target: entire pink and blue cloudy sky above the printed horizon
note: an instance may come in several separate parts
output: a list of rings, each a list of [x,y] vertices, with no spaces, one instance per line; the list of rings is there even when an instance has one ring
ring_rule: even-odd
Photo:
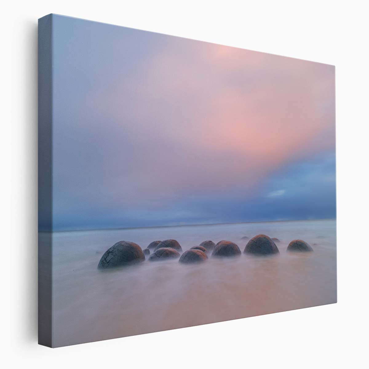
[[[334,66],[53,26],[54,230],[335,218]]]

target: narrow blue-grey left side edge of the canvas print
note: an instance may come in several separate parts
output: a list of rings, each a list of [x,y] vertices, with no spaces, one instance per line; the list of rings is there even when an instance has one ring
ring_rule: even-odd
[[[52,347],[52,15],[38,20],[38,343]]]

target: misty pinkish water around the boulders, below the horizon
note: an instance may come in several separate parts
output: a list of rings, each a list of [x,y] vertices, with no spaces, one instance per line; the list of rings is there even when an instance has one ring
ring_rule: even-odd
[[[54,346],[335,303],[335,232],[335,220],[55,232]],[[279,238],[280,254],[244,255],[247,240],[241,237],[257,234]],[[208,239],[225,239],[235,242],[242,256],[209,255],[197,265],[168,260],[97,269],[115,242],[133,241],[144,249],[168,238],[183,251]],[[286,253],[297,238],[314,252]]]

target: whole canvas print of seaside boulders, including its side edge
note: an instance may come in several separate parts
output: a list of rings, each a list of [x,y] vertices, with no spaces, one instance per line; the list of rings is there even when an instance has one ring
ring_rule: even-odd
[[[39,343],[337,301],[332,65],[39,20]]]

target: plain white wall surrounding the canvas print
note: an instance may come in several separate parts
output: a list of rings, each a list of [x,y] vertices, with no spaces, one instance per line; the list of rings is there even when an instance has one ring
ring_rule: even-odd
[[[0,58],[5,111],[0,145],[0,224],[6,235],[1,237],[1,282],[2,291],[6,290],[1,293],[0,315],[4,368],[365,365],[366,3],[15,0],[2,4],[1,50],[6,48]],[[37,18],[49,13],[336,65],[338,304],[59,349],[37,345]]]

